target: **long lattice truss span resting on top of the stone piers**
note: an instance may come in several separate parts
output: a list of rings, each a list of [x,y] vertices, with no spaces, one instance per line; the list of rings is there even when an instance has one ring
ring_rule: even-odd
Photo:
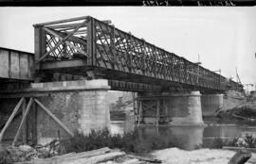
[[[34,25],[39,74],[109,79],[113,90],[243,90],[243,86],[184,57],[85,16]],[[90,75],[91,74],[91,75]]]

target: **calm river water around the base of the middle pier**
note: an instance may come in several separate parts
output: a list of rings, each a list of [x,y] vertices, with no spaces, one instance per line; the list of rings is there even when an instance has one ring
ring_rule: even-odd
[[[180,148],[193,150],[202,144],[216,139],[231,140],[250,134],[256,136],[256,125],[245,123],[223,123],[217,119],[205,119],[206,126],[168,126],[168,125],[139,125],[138,128],[146,135],[160,135],[161,139],[177,139]],[[133,131],[137,125],[133,120],[112,121],[112,134],[123,134]]]

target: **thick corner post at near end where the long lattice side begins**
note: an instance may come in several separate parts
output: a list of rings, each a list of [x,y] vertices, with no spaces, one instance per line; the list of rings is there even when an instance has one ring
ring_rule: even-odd
[[[87,54],[89,56],[87,64],[88,66],[96,66],[96,25],[92,17],[88,17],[87,31]]]

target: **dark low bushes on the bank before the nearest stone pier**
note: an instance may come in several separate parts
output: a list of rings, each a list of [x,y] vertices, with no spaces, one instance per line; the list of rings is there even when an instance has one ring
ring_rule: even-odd
[[[89,135],[83,135],[76,132],[75,136],[70,139],[61,140],[65,153],[84,152],[102,147],[111,149],[120,149],[130,153],[149,153],[153,150],[177,147],[177,139],[164,139],[160,135],[145,135],[138,129],[123,135],[112,135],[107,129],[96,131],[92,130]]]

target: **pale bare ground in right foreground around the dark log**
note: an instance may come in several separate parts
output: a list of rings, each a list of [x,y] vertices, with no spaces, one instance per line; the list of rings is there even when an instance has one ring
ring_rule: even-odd
[[[163,164],[221,164],[228,163],[235,153],[222,149],[184,151],[178,148],[169,148],[155,151],[153,156],[162,160]],[[252,154],[252,157],[247,161],[247,164],[249,163],[256,163],[256,154]]]

